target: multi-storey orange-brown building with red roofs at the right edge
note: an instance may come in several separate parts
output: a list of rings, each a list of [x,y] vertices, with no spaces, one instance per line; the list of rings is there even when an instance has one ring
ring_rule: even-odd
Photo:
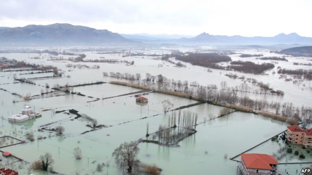
[[[312,129],[302,129],[297,125],[287,126],[286,137],[292,144],[301,144],[312,148]]]

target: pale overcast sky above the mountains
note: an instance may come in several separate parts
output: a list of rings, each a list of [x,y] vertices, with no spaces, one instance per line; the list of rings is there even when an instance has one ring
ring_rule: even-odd
[[[119,34],[312,37],[312,0],[0,0],[0,26],[71,23]]]

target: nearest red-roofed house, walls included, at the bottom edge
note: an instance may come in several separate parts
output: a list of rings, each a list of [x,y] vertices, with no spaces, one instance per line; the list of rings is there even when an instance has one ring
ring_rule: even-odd
[[[276,175],[278,162],[266,154],[241,154],[239,170],[243,175]]]

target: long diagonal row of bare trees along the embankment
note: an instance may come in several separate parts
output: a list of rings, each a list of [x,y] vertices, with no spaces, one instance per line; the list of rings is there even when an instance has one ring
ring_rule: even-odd
[[[246,80],[253,82],[252,79]],[[234,90],[232,90],[232,88],[229,89],[225,81],[220,84],[220,87],[210,84],[206,87],[198,86],[196,82],[191,83],[196,86],[189,86],[188,81],[182,82],[180,80],[170,80],[161,74],[152,76],[149,73],[146,73],[145,79],[137,80],[136,83],[150,89],[160,89],[187,94],[189,98],[197,98],[200,101],[208,101],[220,105],[240,105],[257,111],[275,111],[275,114],[278,115],[312,122],[310,119],[312,118],[310,112],[312,111],[312,107],[302,106],[299,108],[293,106],[292,103],[282,104],[280,102],[268,102],[266,100],[251,99],[243,94],[238,95],[238,92],[250,92],[249,86],[245,83],[237,87],[237,90],[236,88],[234,88]],[[261,93],[265,94],[271,89],[267,84],[263,84],[262,82],[255,81],[255,83],[258,83],[258,86],[262,88]],[[283,94],[283,92],[280,93]],[[166,107],[166,110],[164,108],[164,111],[168,112],[169,110],[167,110]]]

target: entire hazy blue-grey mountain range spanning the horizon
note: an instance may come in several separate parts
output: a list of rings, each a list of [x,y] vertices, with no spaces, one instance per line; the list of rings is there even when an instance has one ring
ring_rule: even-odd
[[[211,44],[211,45],[311,45],[312,37],[292,33],[273,37],[240,35],[209,35],[202,33],[195,37],[180,35],[125,35],[71,24],[27,25],[25,27],[0,27],[0,46],[100,46],[137,45],[143,43]]]

